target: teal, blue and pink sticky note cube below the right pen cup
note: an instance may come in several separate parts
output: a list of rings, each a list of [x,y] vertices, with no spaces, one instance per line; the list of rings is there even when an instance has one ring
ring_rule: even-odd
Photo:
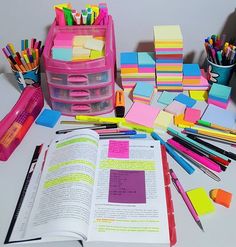
[[[208,95],[208,104],[226,109],[229,104],[230,93],[231,87],[213,83]]]

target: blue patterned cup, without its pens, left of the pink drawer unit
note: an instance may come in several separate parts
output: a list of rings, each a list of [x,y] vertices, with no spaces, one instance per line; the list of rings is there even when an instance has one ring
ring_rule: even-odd
[[[25,72],[20,72],[18,70],[12,69],[12,72],[16,77],[20,91],[22,91],[28,85],[38,87],[41,84],[39,66],[36,66],[35,68],[27,70]]]

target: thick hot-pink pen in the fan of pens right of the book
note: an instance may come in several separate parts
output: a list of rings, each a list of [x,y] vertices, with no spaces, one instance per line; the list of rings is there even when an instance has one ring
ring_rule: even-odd
[[[217,163],[215,163],[214,161],[208,159],[207,157],[201,156],[201,155],[189,150],[188,148],[184,147],[183,145],[179,144],[178,142],[174,141],[173,139],[169,139],[167,142],[171,146],[176,148],[177,150],[180,150],[181,152],[191,156],[193,159],[199,161],[201,164],[208,167],[209,169],[211,169],[215,172],[222,172],[220,166]]]

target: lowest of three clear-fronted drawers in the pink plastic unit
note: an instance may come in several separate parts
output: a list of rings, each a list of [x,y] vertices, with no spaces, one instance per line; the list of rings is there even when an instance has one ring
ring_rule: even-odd
[[[52,109],[60,111],[63,115],[101,115],[113,110],[113,97],[84,101],[84,102],[68,102],[51,98]]]

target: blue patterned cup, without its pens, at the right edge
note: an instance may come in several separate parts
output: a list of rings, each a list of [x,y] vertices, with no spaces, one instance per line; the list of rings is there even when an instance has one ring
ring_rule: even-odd
[[[234,71],[235,64],[219,65],[207,60],[207,78],[210,84],[228,85]]]

